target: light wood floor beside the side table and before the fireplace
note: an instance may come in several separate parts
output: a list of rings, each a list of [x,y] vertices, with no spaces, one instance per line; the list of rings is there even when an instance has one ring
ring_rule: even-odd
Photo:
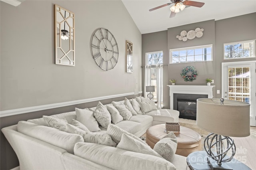
[[[188,119],[180,119],[180,123],[196,125],[196,121]],[[256,132],[255,127],[250,127],[251,131]],[[252,170],[256,170],[256,136],[247,136],[242,138],[232,137],[236,144],[235,159],[243,162]]]

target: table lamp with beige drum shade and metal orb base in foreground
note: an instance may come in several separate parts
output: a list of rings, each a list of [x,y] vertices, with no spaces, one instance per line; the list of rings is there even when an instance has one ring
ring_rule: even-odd
[[[197,99],[196,125],[211,132],[204,140],[208,156],[216,160],[213,169],[232,169],[228,164],[236,153],[232,137],[250,135],[250,104],[224,99]],[[231,155],[230,155],[231,154]]]

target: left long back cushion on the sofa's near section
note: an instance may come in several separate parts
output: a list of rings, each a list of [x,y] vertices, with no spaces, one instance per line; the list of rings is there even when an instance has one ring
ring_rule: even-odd
[[[52,127],[36,125],[27,121],[19,121],[17,129],[18,132],[63,148],[72,154],[74,154],[74,145],[77,142],[84,142],[82,136],[78,134],[63,132]]]

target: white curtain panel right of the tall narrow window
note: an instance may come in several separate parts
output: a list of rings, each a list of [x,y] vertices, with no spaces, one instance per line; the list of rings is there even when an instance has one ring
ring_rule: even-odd
[[[163,85],[163,65],[156,65],[156,83],[157,83],[157,107],[158,109],[161,109],[161,103],[162,103],[162,85]]]

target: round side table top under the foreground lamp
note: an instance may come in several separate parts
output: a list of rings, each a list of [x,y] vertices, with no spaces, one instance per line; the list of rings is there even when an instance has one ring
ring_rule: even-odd
[[[205,151],[192,152],[187,156],[187,170],[251,170],[246,164],[232,159],[230,162],[222,162],[219,166],[217,161],[210,158]]]

